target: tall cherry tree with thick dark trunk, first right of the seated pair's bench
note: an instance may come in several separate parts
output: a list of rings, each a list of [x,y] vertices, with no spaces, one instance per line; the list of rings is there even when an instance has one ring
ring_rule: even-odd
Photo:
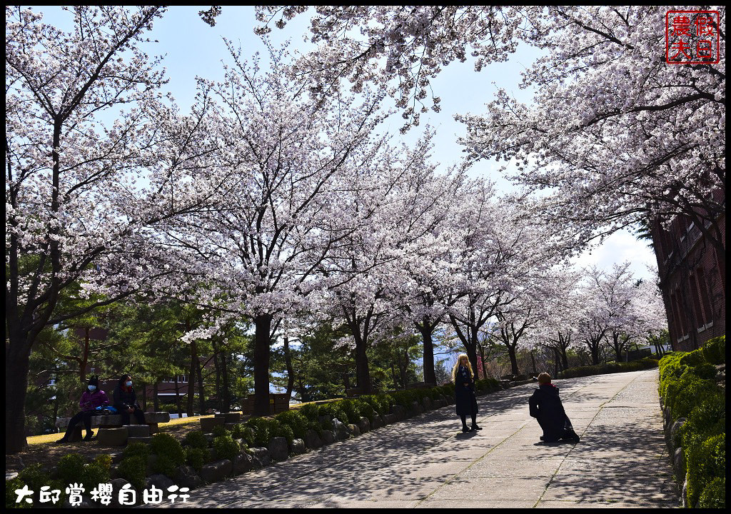
[[[167,238],[200,254],[210,284],[200,301],[219,306],[221,320],[253,322],[254,413],[266,415],[274,335],[317,303],[310,295],[322,289],[322,261],[357,230],[342,223],[344,177],[377,160],[382,141],[371,133],[383,115],[380,97],[367,92],[310,102],[291,78],[286,48],[269,48],[269,72],[258,56],[249,63],[229,49],[224,82],[200,80],[200,88],[216,98],[216,165],[232,173],[215,207],[171,225]]]

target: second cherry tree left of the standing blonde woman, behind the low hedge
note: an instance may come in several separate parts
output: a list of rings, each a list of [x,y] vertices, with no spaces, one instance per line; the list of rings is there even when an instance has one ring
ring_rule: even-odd
[[[413,148],[382,148],[378,159],[349,176],[343,221],[358,228],[322,266],[331,312],[352,333],[357,384],[364,392],[372,390],[366,349],[403,324],[414,286],[404,273],[406,262],[420,260],[435,243],[432,231],[446,208],[429,162],[431,137],[427,132]]]

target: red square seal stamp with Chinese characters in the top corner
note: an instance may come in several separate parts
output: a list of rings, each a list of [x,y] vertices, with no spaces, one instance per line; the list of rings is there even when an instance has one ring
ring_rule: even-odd
[[[667,11],[665,62],[713,64],[720,60],[718,11]]]

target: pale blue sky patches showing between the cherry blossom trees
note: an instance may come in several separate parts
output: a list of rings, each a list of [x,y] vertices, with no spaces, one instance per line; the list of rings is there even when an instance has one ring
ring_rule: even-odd
[[[170,78],[165,89],[173,94],[183,112],[192,105],[196,92],[196,76],[211,80],[223,78],[221,60],[230,59],[224,37],[231,39],[234,45],[240,45],[243,56],[253,56],[257,51],[262,54],[266,52],[261,39],[253,32],[257,25],[253,7],[223,7],[214,27],[205,24],[198,15],[198,11],[208,7],[210,6],[170,7],[162,19],[156,20],[153,31],[148,35],[158,42],[147,43],[144,48],[151,56],[164,56],[162,65],[167,68],[167,77]],[[71,14],[62,11],[60,7],[33,9],[44,13],[46,23],[52,23],[61,29],[70,28]],[[303,42],[308,25],[308,15],[305,13],[289,21],[284,30],[273,29],[270,38],[275,45],[289,39],[292,48],[308,50],[311,47]],[[512,92],[521,101],[529,102],[531,91],[518,88],[520,72],[529,67],[539,55],[534,48],[523,45],[511,56],[510,61],[491,64],[479,73],[474,72],[470,59],[465,63],[453,62],[444,67],[442,73],[432,82],[434,94],[442,99],[442,111],[424,114],[421,126],[409,131],[403,136],[404,140],[406,143],[416,140],[423,127],[430,124],[437,132],[434,160],[444,168],[458,162],[463,152],[461,145],[457,143],[457,137],[465,131],[463,125],[456,122],[453,116],[456,113],[482,112],[484,104],[493,98],[498,87]],[[401,137],[398,129],[402,123],[401,116],[396,113],[385,122],[385,129],[395,138]],[[508,191],[511,185],[497,173],[499,166],[495,161],[480,162],[474,166],[471,174],[489,178],[496,183],[499,190]],[[655,280],[654,253],[645,242],[637,241],[627,231],[612,235],[601,246],[576,257],[574,262],[577,265],[611,268],[614,262],[624,260],[632,262],[631,269],[635,276]]]

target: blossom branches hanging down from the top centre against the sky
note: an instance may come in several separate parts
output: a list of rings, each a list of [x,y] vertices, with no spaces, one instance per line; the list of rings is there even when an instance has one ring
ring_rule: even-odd
[[[305,6],[257,6],[259,34],[273,24],[306,12]],[[507,61],[518,37],[541,33],[540,9],[509,6],[317,6],[311,17],[314,52],[298,59],[298,74],[314,77],[314,94],[338,91],[348,81],[359,91],[366,83],[389,85],[402,110],[402,132],[419,124],[420,115],[438,112],[440,98],[431,94],[431,79],[452,61],[475,57],[474,67]],[[526,36],[520,34],[526,33]]]

